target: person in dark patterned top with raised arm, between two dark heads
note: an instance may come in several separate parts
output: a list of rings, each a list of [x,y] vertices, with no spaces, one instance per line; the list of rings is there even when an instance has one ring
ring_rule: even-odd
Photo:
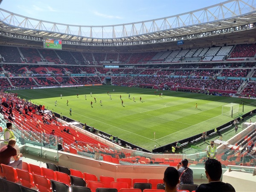
[[[181,160],[180,164],[177,164],[177,170],[179,172],[180,185],[182,184],[194,184],[193,181],[193,171],[188,168],[189,161],[187,159]],[[180,185],[177,185],[177,189],[180,189]]]

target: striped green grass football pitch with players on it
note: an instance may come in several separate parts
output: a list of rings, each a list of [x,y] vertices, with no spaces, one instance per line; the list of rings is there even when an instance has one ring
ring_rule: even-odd
[[[110,92],[112,99],[107,91]],[[14,90],[13,92],[17,92],[21,98],[45,105],[49,110],[62,113],[64,116],[86,123],[149,151],[154,148],[154,145],[159,147],[175,140],[182,140],[233,120],[230,116],[221,115],[222,105],[241,102],[238,98],[169,90],[158,91],[155,95],[154,91],[153,89],[105,85]],[[163,96],[160,97],[159,93],[163,93]],[[79,98],[76,94],[79,94]],[[87,100],[85,100],[85,94]],[[131,95],[130,99],[128,99],[128,94]],[[142,97],[141,102],[140,97]],[[57,106],[55,106],[56,100]],[[99,104],[100,100],[102,100],[102,106]],[[256,101],[252,99],[243,100],[256,104]],[[198,109],[195,109],[196,103]],[[71,115],[69,114],[70,108],[72,108]],[[244,113],[254,108],[245,105]],[[241,114],[239,112],[236,116]]]

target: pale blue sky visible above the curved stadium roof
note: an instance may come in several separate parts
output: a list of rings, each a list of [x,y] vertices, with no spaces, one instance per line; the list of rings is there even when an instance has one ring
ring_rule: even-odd
[[[105,26],[190,12],[224,0],[2,0],[0,8],[55,23]]]

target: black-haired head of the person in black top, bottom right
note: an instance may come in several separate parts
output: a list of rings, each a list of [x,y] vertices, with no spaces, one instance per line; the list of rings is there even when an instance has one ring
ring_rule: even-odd
[[[209,159],[205,162],[205,174],[209,181],[218,181],[222,175],[221,162]]]

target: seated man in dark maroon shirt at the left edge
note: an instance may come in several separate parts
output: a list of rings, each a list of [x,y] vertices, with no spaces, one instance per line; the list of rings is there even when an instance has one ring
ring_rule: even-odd
[[[7,166],[12,166],[17,169],[22,169],[22,153],[17,154],[17,150],[14,148],[16,144],[15,139],[10,139],[8,145],[0,149],[0,164],[3,163]],[[11,158],[14,158],[14,161],[11,161]]]

